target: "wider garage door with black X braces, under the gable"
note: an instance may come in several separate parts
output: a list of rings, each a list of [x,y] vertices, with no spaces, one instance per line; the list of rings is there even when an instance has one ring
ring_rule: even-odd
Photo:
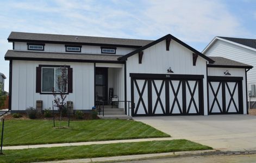
[[[131,73],[132,116],[203,115],[203,76]]]

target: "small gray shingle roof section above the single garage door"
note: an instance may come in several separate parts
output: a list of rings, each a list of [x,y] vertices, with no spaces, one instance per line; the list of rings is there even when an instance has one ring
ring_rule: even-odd
[[[224,58],[224,57],[209,57],[209,58],[215,61],[213,64],[209,64],[209,65],[235,66],[235,67],[248,67],[248,68],[253,67],[251,65],[243,64],[241,62],[234,61],[234,60],[231,60],[231,59],[227,59],[227,58]]]

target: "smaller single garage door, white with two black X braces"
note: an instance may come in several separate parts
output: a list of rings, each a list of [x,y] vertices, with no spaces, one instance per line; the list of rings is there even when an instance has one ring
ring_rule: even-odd
[[[242,77],[208,77],[209,114],[243,114]]]

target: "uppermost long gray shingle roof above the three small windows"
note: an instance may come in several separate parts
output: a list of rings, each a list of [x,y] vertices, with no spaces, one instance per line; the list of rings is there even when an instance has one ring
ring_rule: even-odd
[[[119,39],[112,37],[92,37],[92,36],[76,36],[76,35],[58,35],[58,34],[39,34],[39,33],[24,33],[11,32],[8,37],[9,41],[42,41],[47,42],[70,42],[70,43],[91,43],[103,45],[124,45],[124,46],[144,46],[153,40],[138,40],[138,39]]]

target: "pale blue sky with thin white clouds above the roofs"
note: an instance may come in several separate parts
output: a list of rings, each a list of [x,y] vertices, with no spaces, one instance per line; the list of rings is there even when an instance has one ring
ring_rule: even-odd
[[[151,40],[170,33],[202,51],[214,36],[256,39],[255,9],[256,0],[1,0],[0,72],[9,78],[11,31]]]

